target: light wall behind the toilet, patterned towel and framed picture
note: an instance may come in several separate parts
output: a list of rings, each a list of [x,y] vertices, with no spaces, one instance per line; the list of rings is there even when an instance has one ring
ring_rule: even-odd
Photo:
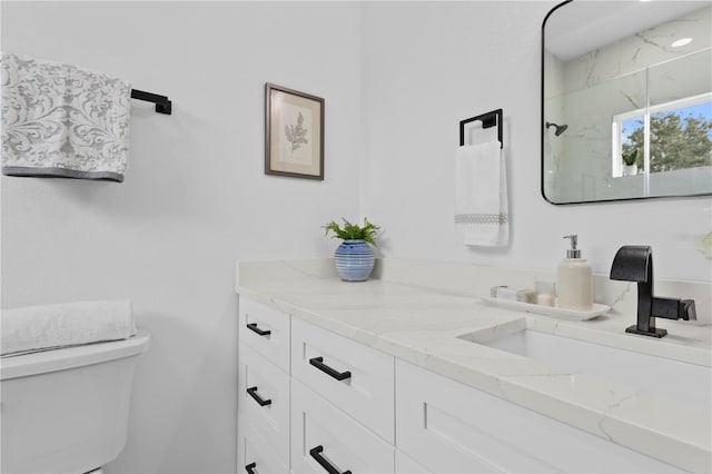
[[[2,2],[2,49],[134,101],[123,184],[2,178],[3,307],[127,297],[152,334],[108,473],[235,472],[237,259],[326,256],[358,217],[360,17],[336,3]],[[265,176],[264,85],[326,99],[324,182]]]

